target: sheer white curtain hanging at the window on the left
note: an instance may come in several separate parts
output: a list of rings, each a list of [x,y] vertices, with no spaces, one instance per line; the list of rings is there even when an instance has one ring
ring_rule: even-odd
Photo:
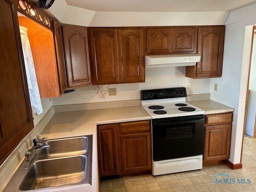
[[[24,55],[24,62],[28,80],[28,91],[30,96],[30,103],[32,107],[32,112],[41,114],[43,112],[42,104],[40,100],[40,94],[38,90],[38,84],[36,80],[36,72],[34,68],[34,62],[32,57],[32,52],[30,48],[30,43],[28,40],[28,29],[20,26],[20,36],[22,42],[22,50]]]

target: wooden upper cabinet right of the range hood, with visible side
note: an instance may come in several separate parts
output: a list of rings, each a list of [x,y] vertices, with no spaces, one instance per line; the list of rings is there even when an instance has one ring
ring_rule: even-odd
[[[186,77],[212,78],[222,76],[225,26],[198,28],[197,52],[201,60],[186,67]]]

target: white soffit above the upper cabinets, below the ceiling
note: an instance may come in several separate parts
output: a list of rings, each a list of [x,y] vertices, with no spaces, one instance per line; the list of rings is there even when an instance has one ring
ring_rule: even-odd
[[[95,12],[55,0],[46,10],[60,22],[80,26],[224,25],[229,11],[219,12]]]

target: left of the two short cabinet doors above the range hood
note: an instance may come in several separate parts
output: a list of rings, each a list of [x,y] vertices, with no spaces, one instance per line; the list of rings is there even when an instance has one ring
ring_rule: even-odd
[[[172,43],[172,30],[170,27],[147,28],[147,53],[170,53]]]

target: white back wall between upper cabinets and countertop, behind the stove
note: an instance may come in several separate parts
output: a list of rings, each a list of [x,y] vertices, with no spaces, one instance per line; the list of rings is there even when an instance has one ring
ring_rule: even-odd
[[[185,86],[187,94],[209,93],[210,79],[192,79],[185,77],[186,67],[146,68],[145,83],[113,84],[109,88],[116,88],[116,96],[106,95],[100,98],[95,86],[78,88],[75,92],[63,94],[60,98],[53,98],[53,105],[79,104],[118,100],[140,99],[140,90],[149,88],[163,88],[171,86]]]

